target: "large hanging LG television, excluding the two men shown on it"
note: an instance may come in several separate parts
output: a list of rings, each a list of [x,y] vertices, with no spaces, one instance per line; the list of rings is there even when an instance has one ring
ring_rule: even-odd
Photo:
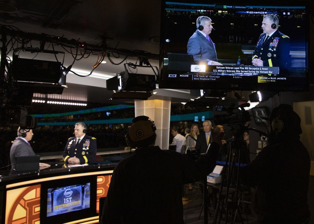
[[[290,2],[162,1],[159,88],[309,91],[309,8],[305,2]],[[252,64],[267,14],[279,18],[279,32],[290,40],[284,67]],[[197,30],[199,16],[212,20],[214,30],[209,36],[222,65],[204,65],[187,54],[187,43]],[[268,57],[277,56],[278,40],[274,38],[266,46],[273,51]]]

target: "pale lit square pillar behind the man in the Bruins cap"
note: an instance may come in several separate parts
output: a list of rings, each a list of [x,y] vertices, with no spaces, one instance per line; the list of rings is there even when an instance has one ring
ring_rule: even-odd
[[[155,145],[161,149],[168,149],[171,101],[142,100],[135,101],[134,106],[135,117],[145,115],[154,121],[157,128]]]

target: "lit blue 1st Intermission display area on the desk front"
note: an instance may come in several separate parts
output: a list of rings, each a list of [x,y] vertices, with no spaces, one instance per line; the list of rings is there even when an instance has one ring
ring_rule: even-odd
[[[47,217],[90,207],[90,183],[47,190]]]

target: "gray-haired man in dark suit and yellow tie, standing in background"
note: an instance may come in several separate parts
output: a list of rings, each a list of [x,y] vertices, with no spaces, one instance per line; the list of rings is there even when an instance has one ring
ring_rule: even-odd
[[[206,153],[212,139],[212,122],[205,120],[203,122],[204,133],[197,136],[195,149],[199,150],[200,153]]]

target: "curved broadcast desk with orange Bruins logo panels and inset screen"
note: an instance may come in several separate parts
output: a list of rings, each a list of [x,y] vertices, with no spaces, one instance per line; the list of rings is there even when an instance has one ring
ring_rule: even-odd
[[[98,223],[99,198],[107,195],[116,163],[50,165],[0,177],[1,223]]]

